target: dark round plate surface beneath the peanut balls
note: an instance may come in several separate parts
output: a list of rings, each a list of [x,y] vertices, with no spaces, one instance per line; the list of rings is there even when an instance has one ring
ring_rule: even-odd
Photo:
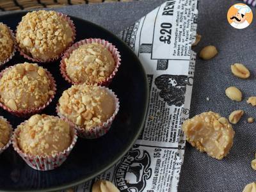
[[[15,30],[25,14],[26,12],[4,15],[0,17],[0,22]],[[9,147],[0,155],[0,190],[59,190],[93,179],[111,168],[125,155],[143,128],[148,104],[148,83],[137,56],[124,42],[106,29],[76,17],[71,19],[77,29],[76,41],[90,37],[103,38],[116,45],[120,51],[122,64],[109,86],[120,99],[120,111],[108,134],[95,140],[79,138],[67,161],[56,170],[47,172],[33,170],[13,151],[12,147]],[[24,61],[26,60],[16,53],[8,65],[1,67],[1,70]],[[56,115],[56,103],[63,90],[70,87],[70,84],[61,77],[59,63],[60,61],[56,61],[42,65],[52,73],[58,89],[53,102],[43,111],[48,115]],[[25,120],[10,115],[3,109],[0,109],[0,114],[9,120],[13,127]]]

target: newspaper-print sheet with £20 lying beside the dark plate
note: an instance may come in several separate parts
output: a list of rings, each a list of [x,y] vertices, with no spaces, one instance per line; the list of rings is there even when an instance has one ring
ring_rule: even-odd
[[[170,0],[122,31],[119,36],[140,58],[150,98],[143,132],[134,147],[110,170],[74,188],[91,191],[97,179],[120,191],[177,191],[184,157],[181,123],[188,118],[198,16],[197,0]]]

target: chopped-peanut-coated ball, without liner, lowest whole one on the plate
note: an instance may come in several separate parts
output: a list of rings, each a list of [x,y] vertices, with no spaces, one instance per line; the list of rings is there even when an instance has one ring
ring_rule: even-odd
[[[18,144],[26,154],[53,155],[67,149],[72,141],[70,126],[56,116],[33,115],[18,128]]]

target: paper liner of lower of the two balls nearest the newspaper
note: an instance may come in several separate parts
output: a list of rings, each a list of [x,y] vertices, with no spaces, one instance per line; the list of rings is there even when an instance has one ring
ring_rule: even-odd
[[[114,111],[113,115],[106,122],[104,122],[101,125],[98,125],[96,127],[92,127],[90,130],[86,130],[82,127],[79,127],[78,125],[74,124],[74,122],[69,120],[65,115],[62,115],[60,113],[59,104],[56,107],[56,112],[57,112],[58,116],[60,116],[60,118],[63,118],[71,126],[74,126],[76,128],[77,134],[81,138],[86,138],[86,139],[99,138],[100,136],[103,136],[104,134],[106,134],[109,131],[111,124],[113,123],[115,116],[118,113],[119,107],[120,107],[119,100],[118,100],[117,96],[115,95],[115,93],[112,92],[112,90],[109,90],[109,88],[106,88],[106,90],[108,90],[108,92],[111,93],[111,95],[113,95],[113,97],[115,99],[115,107],[116,107],[115,111]]]

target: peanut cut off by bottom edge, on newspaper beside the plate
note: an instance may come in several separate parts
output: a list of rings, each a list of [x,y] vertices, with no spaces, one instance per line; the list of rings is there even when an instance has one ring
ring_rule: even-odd
[[[97,180],[92,186],[92,192],[120,192],[116,186],[108,180]]]

